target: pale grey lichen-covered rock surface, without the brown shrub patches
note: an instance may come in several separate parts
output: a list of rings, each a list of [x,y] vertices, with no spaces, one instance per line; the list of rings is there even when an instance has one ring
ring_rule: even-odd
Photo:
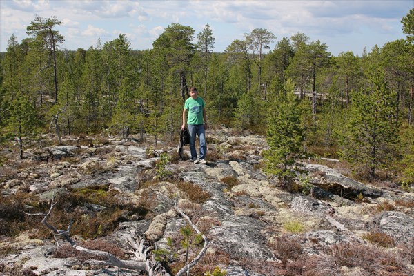
[[[302,248],[299,251],[309,256],[326,255],[329,246],[338,244],[372,244],[366,239],[369,233],[391,237],[395,242],[391,248],[395,250],[398,245],[410,244],[414,239],[413,193],[394,193],[368,186],[332,168],[315,164],[304,164],[313,186],[311,193],[289,193],[279,187],[277,179],[264,175],[260,169],[260,152],[265,148],[263,137],[224,134],[217,135],[215,140],[220,144],[211,146],[223,150],[221,159],[208,164],[193,164],[188,160],[172,162],[164,169],[174,177],[158,181],[153,176],[160,151],[155,152],[155,157],[147,157],[145,146],[130,141],[110,141],[110,146],[95,146],[95,150],[77,146],[50,147],[47,152],[54,160],[53,165],[43,161],[42,166],[27,168],[31,171],[30,174],[26,172],[26,177],[16,175],[16,179],[3,181],[3,197],[24,191],[50,199],[53,194],[71,189],[103,187],[101,193],[111,193],[113,200],[122,204],[152,206],[150,215],[124,215],[117,229],[107,238],[127,248],[122,237],[134,230],[155,247],[165,250],[168,250],[168,237],[176,238],[187,224],[175,210],[179,199],[181,209],[194,219],[210,240],[208,254],[221,255],[216,256],[215,265],[226,270],[226,275],[285,275],[269,272],[295,261],[284,258],[282,247],[277,244],[285,236],[293,238]],[[248,146],[248,150],[241,146]],[[100,150],[105,155],[99,155]],[[164,148],[163,151],[172,154],[175,148]],[[44,154],[46,150],[32,155],[32,159],[41,160],[36,156]],[[69,164],[64,161],[65,157],[78,157],[79,160],[77,164]],[[226,183],[226,179],[233,179],[234,184]],[[192,199],[180,183],[193,185],[188,189],[197,188],[195,198],[201,197],[202,193],[208,196],[202,200]],[[357,201],[357,195],[367,200]],[[393,201],[401,198],[411,205],[401,206]],[[377,208],[384,201],[395,208]],[[92,207],[82,207],[95,213],[103,210],[99,202]],[[300,229],[290,228],[292,223]],[[3,273],[12,271],[13,267],[29,269],[36,275],[117,273],[115,268],[90,266],[75,257],[52,257],[50,253],[55,250],[55,245],[50,239],[43,242],[28,239],[18,244],[15,239],[2,238],[1,242],[3,246],[15,248],[14,253],[3,255],[0,260]],[[284,269],[286,272],[287,268]],[[401,275],[414,273],[413,264],[406,264],[400,271]],[[123,271],[122,275],[136,274]],[[362,272],[360,275],[368,274]]]

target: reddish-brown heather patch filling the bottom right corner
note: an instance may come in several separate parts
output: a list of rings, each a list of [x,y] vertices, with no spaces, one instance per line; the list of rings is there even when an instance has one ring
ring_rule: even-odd
[[[341,243],[324,248],[319,255],[309,255],[295,239],[284,236],[269,246],[282,262],[246,259],[246,268],[263,275],[281,276],[412,275],[407,266],[412,264],[414,255],[410,245],[395,254],[375,246]]]

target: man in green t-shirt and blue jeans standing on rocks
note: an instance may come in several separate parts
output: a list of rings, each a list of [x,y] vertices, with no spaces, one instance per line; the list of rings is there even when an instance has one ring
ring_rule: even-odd
[[[207,114],[206,104],[201,97],[198,97],[197,88],[190,88],[190,97],[184,103],[183,110],[183,124],[181,129],[186,128],[186,112],[188,111],[188,132],[190,133],[190,152],[191,160],[194,164],[206,164],[206,134],[207,129]],[[197,151],[195,150],[195,137],[198,135],[200,142],[199,158],[197,158]]]

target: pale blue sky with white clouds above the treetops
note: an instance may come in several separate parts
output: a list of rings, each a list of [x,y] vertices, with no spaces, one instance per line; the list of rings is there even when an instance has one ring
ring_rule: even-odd
[[[197,34],[206,24],[215,37],[215,52],[224,52],[235,39],[255,28],[272,32],[276,39],[302,32],[321,41],[332,55],[353,51],[362,55],[373,46],[406,38],[402,17],[414,0],[243,0],[243,1],[141,1],[141,0],[0,0],[0,52],[14,34],[19,43],[28,38],[27,26],[36,15],[57,17],[55,30],[65,41],[61,49],[87,50],[125,34],[133,50],[151,49],[152,42],[171,23],[190,26]]]

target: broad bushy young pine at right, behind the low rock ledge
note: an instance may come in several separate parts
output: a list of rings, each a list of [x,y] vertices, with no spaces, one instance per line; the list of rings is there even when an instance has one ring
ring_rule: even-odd
[[[353,94],[353,106],[342,133],[341,155],[355,168],[366,168],[375,177],[377,168],[393,164],[398,153],[395,92],[382,75],[373,75],[371,88]]]

